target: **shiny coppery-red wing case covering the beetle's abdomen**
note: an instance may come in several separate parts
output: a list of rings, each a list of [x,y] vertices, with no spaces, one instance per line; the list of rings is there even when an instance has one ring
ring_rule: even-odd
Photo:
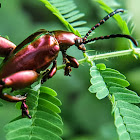
[[[57,57],[60,48],[56,39],[47,34],[34,40],[3,65],[0,79],[22,70],[41,70]]]

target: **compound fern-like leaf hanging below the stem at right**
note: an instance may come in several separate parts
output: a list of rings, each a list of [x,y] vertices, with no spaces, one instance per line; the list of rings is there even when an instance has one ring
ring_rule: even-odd
[[[136,92],[126,88],[129,82],[123,74],[105,66],[102,69],[102,65],[91,67],[92,85],[89,91],[96,93],[97,98],[99,95],[102,98],[107,95],[111,97],[119,140],[138,140],[140,139],[140,108],[133,103],[140,103],[140,97]],[[106,92],[103,89],[106,89]]]

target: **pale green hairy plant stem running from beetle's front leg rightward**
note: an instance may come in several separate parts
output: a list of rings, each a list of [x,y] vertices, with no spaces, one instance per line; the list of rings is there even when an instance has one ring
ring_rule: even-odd
[[[135,48],[135,49],[129,49],[129,50],[122,50],[122,51],[116,51],[116,52],[109,52],[109,53],[104,53],[104,54],[97,54],[97,55],[92,55],[88,56],[84,54],[85,58],[78,60],[79,64],[85,63],[85,62],[91,62],[95,60],[100,60],[100,59],[108,59],[108,58],[113,58],[113,57],[119,57],[119,56],[125,56],[125,55],[138,55],[140,57],[140,48]],[[65,65],[60,65],[57,67],[57,70],[60,70],[64,68]]]

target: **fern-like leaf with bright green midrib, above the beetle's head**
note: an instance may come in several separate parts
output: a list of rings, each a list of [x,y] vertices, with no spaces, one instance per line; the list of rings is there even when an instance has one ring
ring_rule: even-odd
[[[80,27],[86,21],[79,20],[84,16],[77,10],[73,0],[40,0],[45,6],[56,15],[66,28],[75,35],[84,36],[89,30],[88,27]]]

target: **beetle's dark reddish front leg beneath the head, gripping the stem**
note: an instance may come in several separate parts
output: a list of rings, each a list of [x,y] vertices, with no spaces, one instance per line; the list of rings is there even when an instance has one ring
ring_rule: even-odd
[[[63,55],[63,63],[66,64],[66,67],[64,69],[64,75],[71,76],[70,75],[70,72],[72,71],[71,67],[78,68],[79,63],[76,58],[67,55],[66,51],[63,51],[62,55]]]

